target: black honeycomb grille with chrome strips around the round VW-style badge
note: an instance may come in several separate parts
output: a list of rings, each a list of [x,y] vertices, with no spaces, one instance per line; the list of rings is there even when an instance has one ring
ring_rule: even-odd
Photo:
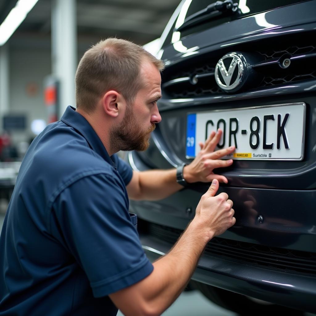
[[[301,35],[304,37],[304,35]],[[309,41],[313,41],[315,36],[308,35]],[[291,39],[290,43],[295,42]],[[253,45],[253,44],[252,44]],[[267,50],[266,47],[274,47],[273,50]],[[261,49],[260,49],[261,48]],[[256,44],[255,54],[261,61],[253,65],[258,73],[261,74],[262,80],[256,83],[251,90],[279,86],[298,82],[303,80],[313,80],[316,78],[316,69],[314,67],[316,60],[316,43],[307,43],[296,39],[295,45],[289,46],[282,43],[274,42],[267,45],[265,42]],[[249,44],[243,46],[231,47],[230,51],[253,52],[253,47]],[[163,75],[162,89],[170,99],[195,98],[200,96],[214,96],[223,94],[224,91],[218,87],[215,81],[216,63],[226,52],[218,53],[218,56],[201,60],[201,57],[186,61],[185,67],[167,68]],[[291,65],[288,68],[281,68],[278,64],[279,58],[284,56],[291,59]],[[207,58],[207,56],[204,56]],[[187,66],[189,65],[189,66]],[[184,69],[185,68],[185,69]]]

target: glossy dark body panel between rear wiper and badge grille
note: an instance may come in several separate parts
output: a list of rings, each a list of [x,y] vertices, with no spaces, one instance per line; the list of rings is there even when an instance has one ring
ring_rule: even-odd
[[[312,0],[260,13],[268,22],[269,27],[260,26],[257,22],[258,15],[254,15],[183,38],[180,35],[179,41],[187,48],[186,51],[179,52],[174,48],[174,44],[169,44],[162,48],[162,59],[169,67],[192,58],[192,53],[196,57],[209,52],[210,46],[212,46],[212,51],[223,49],[223,52],[229,52],[231,51],[229,47],[237,44],[253,42],[255,48],[258,40],[304,33],[308,30],[314,31],[316,27],[315,11],[316,2]]]

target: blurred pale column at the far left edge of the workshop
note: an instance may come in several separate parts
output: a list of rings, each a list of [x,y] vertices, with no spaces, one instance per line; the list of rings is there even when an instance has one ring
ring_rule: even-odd
[[[8,44],[0,46],[0,130],[2,130],[3,115],[9,112],[10,70]]]

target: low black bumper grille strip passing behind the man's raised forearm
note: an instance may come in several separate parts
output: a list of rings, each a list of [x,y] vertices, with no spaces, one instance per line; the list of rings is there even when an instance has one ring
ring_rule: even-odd
[[[182,230],[146,222],[147,233],[174,244]],[[229,261],[288,273],[316,275],[316,253],[268,247],[248,242],[214,237],[204,254]]]

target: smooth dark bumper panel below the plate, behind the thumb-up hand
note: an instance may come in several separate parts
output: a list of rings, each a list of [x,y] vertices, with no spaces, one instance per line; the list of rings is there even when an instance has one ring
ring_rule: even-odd
[[[134,157],[142,169],[142,162]],[[144,167],[144,166],[143,166]],[[156,201],[131,201],[140,218],[161,225],[185,229],[208,184],[192,185],[172,196]],[[221,236],[260,245],[316,252],[316,190],[273,190],[221,186],[234,201],[236,224]],[[187,208],[192,213],[186,212]],[[150,211],[148,211],[150,210]],[[259,223],[258,216],[264,221]]]

